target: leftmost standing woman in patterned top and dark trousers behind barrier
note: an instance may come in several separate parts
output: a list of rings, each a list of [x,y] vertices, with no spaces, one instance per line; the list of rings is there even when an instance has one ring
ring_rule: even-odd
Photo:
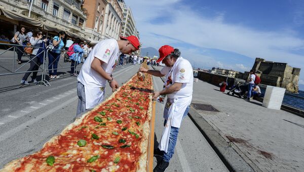
[[[25,27],[21,27],[20,30],[15,33],[14,40],[16,41],[17,45],[20,45],[17,47],[16,51],[18,64],[21,64],[21,57],[24,53],[22,45],[24,45],[24,42],[26,41]]]

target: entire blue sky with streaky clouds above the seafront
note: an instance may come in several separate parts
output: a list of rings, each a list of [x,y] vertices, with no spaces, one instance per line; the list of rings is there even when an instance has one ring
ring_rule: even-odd
[[[302,68],[304,1],[126,0],[142,47],[171,45],[195,67],[248,71],[255,57]]]

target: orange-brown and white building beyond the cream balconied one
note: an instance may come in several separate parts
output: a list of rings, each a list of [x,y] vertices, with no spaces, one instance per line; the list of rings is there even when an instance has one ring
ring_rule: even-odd
[[[86,37],[92,43],[104,39],[119,39],[122,29],[123,10],[117,0],[85,1],[88,11]]]

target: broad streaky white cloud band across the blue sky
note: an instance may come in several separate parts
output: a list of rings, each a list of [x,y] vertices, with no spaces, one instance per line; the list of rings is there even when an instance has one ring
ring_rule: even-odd
[[[219,12],[215,18],[208,18],[197,14],[187,6],[178,6],[178,2],[177,0],[126,2],[131,3],[129,5],[136,20],[142,47],[150,46],[158,49],[164,44],[179,43],[178,45],[181,46],[178,48],[181,49],[183,56],[202,62],[202,65],[225,66],[223,62],[202,55],[198,50],[187,50],[189,46],[182,46],[184,43],[201,48],[235,52],[251,58],[261,57],[271,61],[287,62],[293,67],[304,68],[304,55],[291,53],[294,50],[303,51],[304,48],[304,40],[297,37],[296,31],[291,29],[261,31],[240,24],[225,23],[225,13]],[[161,24],[155,23],[156,18],[162,21]],[[235,67],[246,68],[244,65],[235,65]],[[304,76],[303,71],[301,74]]]

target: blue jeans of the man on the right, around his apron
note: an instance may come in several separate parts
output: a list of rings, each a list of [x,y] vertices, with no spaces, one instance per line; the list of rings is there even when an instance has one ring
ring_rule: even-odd
[[[188,111],[189,111],[189,106],[186,108],[186,110],[182,116],[182,119],[184,119],[188,115]],[[167,123],[167,120],[164,121],[164,126],[166,125],[166,123]],[[164,152],[164,155],[163,155],[163,160],[166,162],[169,162],[174,154],[174,148],[175,148],[175,145],[177,142],[178,130],[179,130],[179,128],[171,126],[168,150],[167,150],[167,153]]]

